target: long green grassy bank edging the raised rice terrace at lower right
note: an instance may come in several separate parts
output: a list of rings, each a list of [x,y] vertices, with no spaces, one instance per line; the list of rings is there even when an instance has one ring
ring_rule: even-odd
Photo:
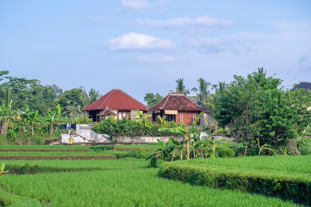
[[[187,165],[186,162],[164,163],[158,172],[163,178],[192,185],[233,189],[292,200],[311,205],[311,176],[224,166]]]

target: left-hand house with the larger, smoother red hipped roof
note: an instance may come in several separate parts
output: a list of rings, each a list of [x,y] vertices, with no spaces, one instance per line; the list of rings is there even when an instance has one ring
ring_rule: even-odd
[[[114,115],[116,119],[124,117],[131,119],[137,116],[137,110],[146,113],[147,106],[120,89],[112,89],[82,109],[88,112],[93,122],[98,122],[100,116],[107,118],[111,115]]]

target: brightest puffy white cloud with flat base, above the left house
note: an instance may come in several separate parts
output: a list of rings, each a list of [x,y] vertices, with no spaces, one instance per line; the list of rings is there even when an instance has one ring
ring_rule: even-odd
[[[111,40],[106,43],[110,46],[111,50],[171,50],[175,48],[173,42],[168,39],[160,39],[158,37],[139,34],[128,33]]]

